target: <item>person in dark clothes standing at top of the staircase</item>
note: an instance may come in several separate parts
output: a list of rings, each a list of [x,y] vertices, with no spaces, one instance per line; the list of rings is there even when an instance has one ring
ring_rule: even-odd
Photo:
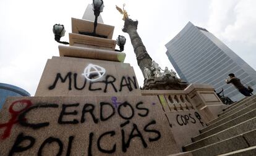
[[[247,88],[245,88],[244,85],[242,85],[239,78],[236,78],[236,76],[233,73],[230,73],[229,75],[230,80],[225,80],[227,84],[232,83],[241,94],[244,96],[251,96],[250,92]]]

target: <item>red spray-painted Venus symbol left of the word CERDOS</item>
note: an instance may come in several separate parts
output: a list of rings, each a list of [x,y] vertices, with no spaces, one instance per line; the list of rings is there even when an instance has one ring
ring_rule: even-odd
[[[0,139],[9,138],[9,136],[11,134],[12,126],[15,123],[19,122],[19,120],[17,120],[17,118],[19,117],[20,113],[23,110],[28,109],[28,107],[30,107],[30,105],[32,105],[32,102],[29,100],[15,101],[11,104],[11,106],[9,107],[9,112],[11,113],[12,117],[7,123],[0,124],[0,129],[6,127],[6,129],[4,130],[4,133],[2,134]],[[14,109],[16,109],[16,110],[14,110]],[[19,109],[19,110],[17,110],[17,109]],[[23,120],[25,120],[25,118]]]

